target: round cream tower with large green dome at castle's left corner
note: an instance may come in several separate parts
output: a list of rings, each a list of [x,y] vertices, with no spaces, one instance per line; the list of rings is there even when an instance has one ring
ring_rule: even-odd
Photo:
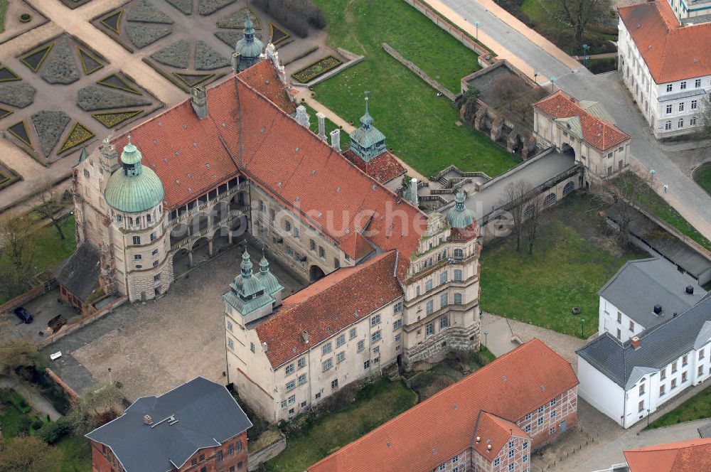
[[[119,291],[130,301],[163,294],[173,280],[161,179],[141,164],[141,151],[129,142],[121,167],[109,177],[104,198],[111,208],[112,243]]]

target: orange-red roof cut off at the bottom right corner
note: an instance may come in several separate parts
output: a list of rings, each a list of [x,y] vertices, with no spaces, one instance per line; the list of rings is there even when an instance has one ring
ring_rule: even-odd
[[[624,451],[630,472],[711,471],[711,439],[692,439]]]

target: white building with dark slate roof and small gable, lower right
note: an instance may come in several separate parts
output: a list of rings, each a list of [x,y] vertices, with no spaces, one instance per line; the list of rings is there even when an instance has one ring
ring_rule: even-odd
[[[629,428],[709,378],[711,299],[625,343],[604,333],[577,355],[579,396]]]

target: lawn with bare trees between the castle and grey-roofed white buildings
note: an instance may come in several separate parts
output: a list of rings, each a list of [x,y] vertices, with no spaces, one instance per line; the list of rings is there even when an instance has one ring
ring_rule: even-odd
[[[570,195],[543,216],[533,255],[513,236],[483,246],[481,307],[507,318],[581,337],[597,331],[597,291],[629,259],[648,257],[605,235],[587,194]],[[581,314],[573,316],[578,306]]]

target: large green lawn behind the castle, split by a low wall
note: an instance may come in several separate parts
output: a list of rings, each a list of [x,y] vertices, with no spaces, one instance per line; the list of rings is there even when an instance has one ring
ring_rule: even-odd
[[[488,136],[457,126],[459,112],[437,97],[397,60],[388,43],[449,90],[479,69],[476,54],[465,48],[402,0],[316,0],[328,21],[328,44],[365,55],[362,63],[316,85],[316,100],[358,124],[370,91],[370,114],[385,134],[387,147],[424,176],[454,164],[490,176],[518,163]]]

